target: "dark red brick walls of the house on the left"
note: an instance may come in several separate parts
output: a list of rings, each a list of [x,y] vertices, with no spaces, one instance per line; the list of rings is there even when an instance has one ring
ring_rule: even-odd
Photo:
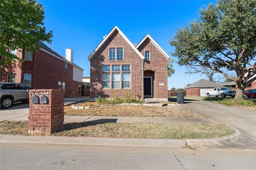
[[[24,49],[17,50],[17,56],[24,59]],[[15,73],[15,82],[23,83],[24,74],[32,74],[32,88],[34,89],[58,89],[58,81],[66,82],[66,96],[81,96],[79,85],[81,82],[73,81],[73,66],[68,65],[68,73],[65,72],[65,62],[45,53],[42,50],[33,51],[32,61],[17,61],[16,63],[1,66],[1,82],[7,81],[9,73]]]

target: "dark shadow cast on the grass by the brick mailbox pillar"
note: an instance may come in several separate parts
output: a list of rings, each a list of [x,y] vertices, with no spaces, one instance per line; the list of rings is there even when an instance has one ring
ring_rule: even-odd
[[[73,122],[73,123],[66,123],[54,133],[62,132],[62,131],[68,131],[72,129],[78,129],[81,127],[87,127],[97,124],[103,124],[103,123],[116,123],[117,119],[98,119],[98,120],[92,120],[92,121],[85,121],[85,122]]]

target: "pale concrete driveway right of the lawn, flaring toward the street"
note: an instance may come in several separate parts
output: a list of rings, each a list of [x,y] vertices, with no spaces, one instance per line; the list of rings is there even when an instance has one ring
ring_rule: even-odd
[[[234,134],[227,137],[186,140],[188,145],[256,149],[256,113],[209,101],[185,100],[181,106],[206,119],[228,125],[235,131]]]

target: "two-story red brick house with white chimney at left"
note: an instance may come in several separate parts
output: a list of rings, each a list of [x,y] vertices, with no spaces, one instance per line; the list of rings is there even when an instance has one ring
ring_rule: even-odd
[[[73,63],[72,49],[62,57],[42,43],[41,49],[10,51],[24,62],[1,66],[1,82],[19,82],[34,89],[65,89],[65,96],[81,96],[83,69]]]

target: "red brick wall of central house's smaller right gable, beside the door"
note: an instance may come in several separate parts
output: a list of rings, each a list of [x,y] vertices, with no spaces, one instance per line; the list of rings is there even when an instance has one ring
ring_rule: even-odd
[[[140,53],[145,56],[145,51],[150,51],[150,61],[144,62],[144,77],[147,76],[146,70],[154,72],[152,77],[152,97],[153,98],[168,98],[168,82],[167,82],[167,61],[166,57],[152,44],[149,39],[146,39],[138,48]],[[154,80],[154,81],[153,81]],[[160,86],[164,83],[164,86]],[[154,89],[154,90],[153,90]]]

